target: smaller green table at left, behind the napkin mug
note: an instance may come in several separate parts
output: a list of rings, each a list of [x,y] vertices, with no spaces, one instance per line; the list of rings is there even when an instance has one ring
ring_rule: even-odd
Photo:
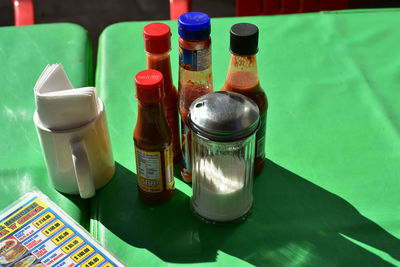
[[[74,24],[0,27],[0,62],[0,210],[38,189],[87,227],[89,201],[52,187],[33,123],[33,86],[47,64],[62,63],[75,87],[93,83],[86,30]]]

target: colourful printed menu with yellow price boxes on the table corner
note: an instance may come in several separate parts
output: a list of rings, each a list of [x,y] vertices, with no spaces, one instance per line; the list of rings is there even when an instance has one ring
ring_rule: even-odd
[[[125,266],[40,192],[0,215],[0,266]]]

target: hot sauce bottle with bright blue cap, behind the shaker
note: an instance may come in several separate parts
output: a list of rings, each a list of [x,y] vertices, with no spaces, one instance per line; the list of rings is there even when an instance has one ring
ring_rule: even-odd
[[[181,174],[186,182],[192,181],[191,133],[187,126],[189,107],[198,97],[213,91],[210,31],[210,17],[204,13],[189,12],[178,19]]]

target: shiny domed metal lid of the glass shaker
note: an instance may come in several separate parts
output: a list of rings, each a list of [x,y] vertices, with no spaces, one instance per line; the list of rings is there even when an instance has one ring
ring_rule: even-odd
[[[236,141],[252,135],[259,127],[256,103],[233,92],[215,92],[196,99],[189,108],[188,126],[213,141]]]

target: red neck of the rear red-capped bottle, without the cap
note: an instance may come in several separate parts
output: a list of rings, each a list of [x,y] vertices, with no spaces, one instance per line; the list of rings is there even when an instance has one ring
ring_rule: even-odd
[[[161,54],[146,52],[147,69],[158,70],[164,77],[164,91],[166,94],[172,89],[171,59],[169,51]]]

